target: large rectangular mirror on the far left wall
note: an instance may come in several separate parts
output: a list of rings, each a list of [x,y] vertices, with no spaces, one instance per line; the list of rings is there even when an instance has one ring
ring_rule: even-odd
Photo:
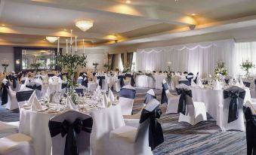
[[[54,50],[21,50],[22,70],[29,70],[38,65],[39,69],[55,69]]]

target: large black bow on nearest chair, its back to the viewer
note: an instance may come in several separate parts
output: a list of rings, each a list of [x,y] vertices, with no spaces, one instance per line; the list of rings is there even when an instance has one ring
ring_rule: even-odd
[[[82,131],[91,133],[92,124],[93,120],[89,117],[85,120],[77,118],[73,123],[69,123],[67,120],[63,120],[63,122],[50,120],[48,126],[51,137],[58,134],[61,134],[62,137],[66,135],[64,155],[78,155],[79,150],[76,144],[76,135],[79,135]]]

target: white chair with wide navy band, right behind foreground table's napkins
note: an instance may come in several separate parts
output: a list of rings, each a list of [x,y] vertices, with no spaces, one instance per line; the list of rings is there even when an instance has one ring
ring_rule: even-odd
[[[136,90],[131,85],[122,87],[119,92],[119,105],[123,115],[131,115]]]

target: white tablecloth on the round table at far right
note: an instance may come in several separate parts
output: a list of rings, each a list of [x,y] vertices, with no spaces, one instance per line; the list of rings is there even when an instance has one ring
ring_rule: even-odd
[[[206,111],[214,120],[218,119],[218,105],[224,104],[224,90],[207,90],[207,89],[192,89],[193,101],[205,102]],[[248,88],[245,88],[245,99],[244,103],[251,101],[251,94]]]

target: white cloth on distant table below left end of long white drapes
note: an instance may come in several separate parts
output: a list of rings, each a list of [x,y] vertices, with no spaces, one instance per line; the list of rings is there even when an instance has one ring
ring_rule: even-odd
[[[135,81],[136,87],[155,88],[156,84],[153,78],[147,75],[137,75]]]

